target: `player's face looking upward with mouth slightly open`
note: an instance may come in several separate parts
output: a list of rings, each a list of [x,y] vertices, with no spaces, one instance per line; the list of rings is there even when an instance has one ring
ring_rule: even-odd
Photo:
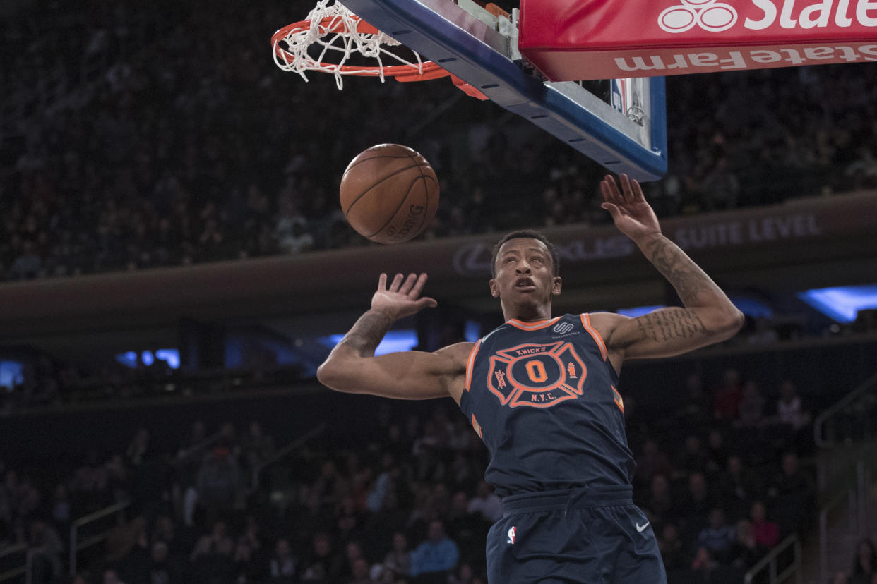
[[[560,294],[551,253],[545,243],[530,237],[510,239],[496,254],[496,278],[490,292],[503,303],[545,304]]]

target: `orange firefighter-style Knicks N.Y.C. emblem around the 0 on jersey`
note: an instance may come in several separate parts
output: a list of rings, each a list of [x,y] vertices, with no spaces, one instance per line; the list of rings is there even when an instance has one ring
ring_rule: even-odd
[[[581,396],[587,375],[570,343],[528,343],[490,357],[488,388],[503,405],[551,407]]]

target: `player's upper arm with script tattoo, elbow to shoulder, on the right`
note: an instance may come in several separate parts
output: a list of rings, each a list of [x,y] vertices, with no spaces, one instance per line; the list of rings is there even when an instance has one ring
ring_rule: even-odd
[[[730,339],[742,322],[739,313],[713,308],[661,308],[629,318],[594,314],[594,326],[603,335],[610,354],[624,359],[669,357]]]

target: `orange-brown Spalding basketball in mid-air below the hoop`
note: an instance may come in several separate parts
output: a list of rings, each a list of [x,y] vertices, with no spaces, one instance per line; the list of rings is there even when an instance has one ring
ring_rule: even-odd
[[[361,236],[377,243],[402,243],[435,218],[439,179],[417,151],[377,144],[347,165],[339,198],[347,222]]]

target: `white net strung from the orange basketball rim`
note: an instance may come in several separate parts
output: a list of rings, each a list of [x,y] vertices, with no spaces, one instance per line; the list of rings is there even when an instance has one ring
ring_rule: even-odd
[[[360,18],[347,10],[343,5],[332,0],[319,0],[308,14],[308,22],[300,23],[278,38],[275,34],[274,59],[277,67],[284,71],[300,74],[308,81],[305,72],[320,71],[335,75],[338,88],[344,87],[343,75],[371,75],[384,81],[384,58],[392,58],[403,67],[410,67],[410,73],[423,74],[424,62],[420,55],[413,53],[414,62],[390,53],[384,46],[402,46],[387,34],[377,31],[360,32],[358,28],[375,31],[370,25],[360,25]],[[281,43],[285,44],[282,46]],[[313,46],[317,46],[313,47]],[[359,53],[377,61],[374,67],[347,65],[351,55]],[[314,56],[316,54],[316,56]],[[329,63],[327,59],[337,59],[337,63]]]

